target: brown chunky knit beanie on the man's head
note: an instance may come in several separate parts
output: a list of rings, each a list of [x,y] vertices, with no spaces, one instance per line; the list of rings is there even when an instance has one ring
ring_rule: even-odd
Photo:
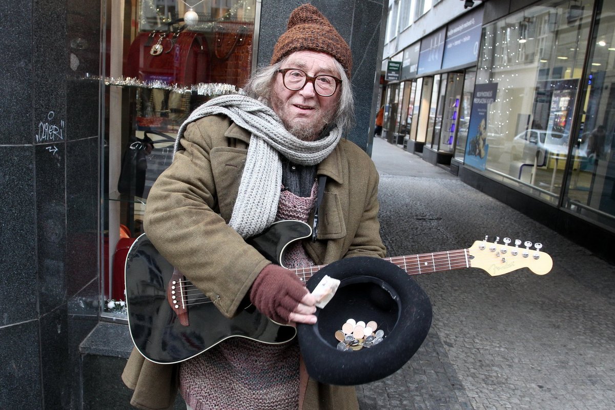
[[[311,4],[299,6],[290,14],[287,30],[273,48],[271,64],[301,50],[313,50],[331,55],[344,67],[346,76],[350,78],[352,70],[350,47],[327,17]]]

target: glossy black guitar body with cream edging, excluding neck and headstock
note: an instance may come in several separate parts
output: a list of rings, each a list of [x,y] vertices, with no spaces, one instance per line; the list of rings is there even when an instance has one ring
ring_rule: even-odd
[[[308,237],[311,232],[303,222],[280,221],[247,242],[270,261],[281,264],[287,245]],[[148,360],[178,363],[229,337],[246,337],[269,344],[288,342],[295,337],[293,326],[274,323],[252,305],[228,319],[208,299],[188,307],[189,323],[183,325],[167,299],[173,270],[145,234],[131,246],[125,267],[130,336]]]

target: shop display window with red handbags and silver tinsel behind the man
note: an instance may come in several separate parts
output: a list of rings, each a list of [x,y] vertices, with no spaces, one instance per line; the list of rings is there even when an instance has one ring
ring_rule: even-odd
[[[172,162],[178,128],[253,69],[256,0],[103,2],[101,304],[125,315],[124,262],[147,198]]]

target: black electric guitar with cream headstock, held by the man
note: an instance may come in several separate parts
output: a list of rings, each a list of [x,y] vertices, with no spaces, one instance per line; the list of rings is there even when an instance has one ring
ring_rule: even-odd
[[[247,242],[270,261],[282,265],[287,246],[308,238],[312,229],[300,221],[280,221]],[[525,242],[525,248],[504,243],[474,242],[471,248],[386,258],[410,275],[478,267],[491,276],[528,267],[538,275],[553,266],[542,245]],[[321,266],[295,269],[307,281]],[[143,356],[155,363],[188,360],[229,337],[247,337],[269,344],[290,341],[296,329],[280,325],[248,306],[228,319],[213,302],[164,259],[145,234],[131,246],[125,268],[126,302],[130,336]]]

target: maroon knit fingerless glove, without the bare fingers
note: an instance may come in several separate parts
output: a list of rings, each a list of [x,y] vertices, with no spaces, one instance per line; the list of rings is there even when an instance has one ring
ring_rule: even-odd
[[[269,264],[252,283],[250,301],[266,317],[284,324],[306,293],[308,289],[291,270]]]

